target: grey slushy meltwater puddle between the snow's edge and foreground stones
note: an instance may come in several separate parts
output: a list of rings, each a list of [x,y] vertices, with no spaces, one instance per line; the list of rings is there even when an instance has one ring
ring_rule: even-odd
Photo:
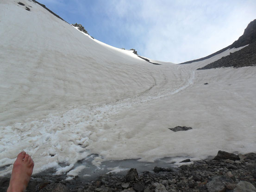
[[[165,168],[176,168],[178,167],[181,160],[184,160],[187,157],[164,157],[158,159],[155,162],[144,162],[138,161],[139,159],[126,159],[126,160],[111,160],[103,161],[100,165],[94,165],[94,158],[99,157],[97,154],[88,155],[84,160],[78,161],[75,165],[66,173],[56,174],[58,169],[47,169],[44,172],[37,173],[37,175],[44,175],[52,177],[56,175],[61,177],[63,180],[73,180],[75,177],[80,177],[84,182],[89,182],[95,180],[99,176],[108,173],[117,173],[119,175],[125,175],[127,171],[131,168],[136,168],[138,173],[143,173],[144,171],[153,172],[154,167],[165,167]],[[182,163],[182,164],[191,164]],[[61,169],[70,167],[70,165],[60,165]]]

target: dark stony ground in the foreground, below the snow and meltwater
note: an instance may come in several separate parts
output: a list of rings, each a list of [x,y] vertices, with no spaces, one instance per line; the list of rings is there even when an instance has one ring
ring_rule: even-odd
[[[91,182],[64,178],[33,176],[27,192],[256,192],[256,154],[219,151],[213,160],[179,168],[155,167],[141,174],[131,168],[126,176],[109,173]],[[6,191],[8,182],[9,178],[0,178],[0,192]]]

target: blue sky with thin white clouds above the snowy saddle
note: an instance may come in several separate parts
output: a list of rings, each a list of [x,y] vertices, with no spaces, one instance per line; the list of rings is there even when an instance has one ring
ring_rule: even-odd
[[[38,0],[117,48],[164,62],[208,56],[256,19],[256,0]]]

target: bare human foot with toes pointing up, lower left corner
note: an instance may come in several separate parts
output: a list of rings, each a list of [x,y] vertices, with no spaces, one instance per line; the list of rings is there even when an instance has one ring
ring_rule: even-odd
[[[33,172],[33,167],[34,162],[31,156],[24,151],[19,153],[13,163],[12,176],[7,192],[24,192]]]

